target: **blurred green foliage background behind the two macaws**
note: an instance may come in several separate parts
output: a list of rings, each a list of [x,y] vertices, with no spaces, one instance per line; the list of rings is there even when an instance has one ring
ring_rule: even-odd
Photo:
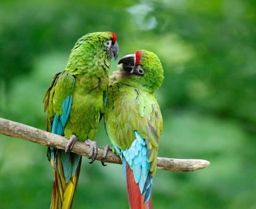
[[[162,61],[158,156],[211,162],[158,169],[154,208],[256,208],[255,1],[2,0],[0,18],[0,117],[45,130],[44,93],[76,40],[113,31],[119,58],[146,49]],[[109,143],[102,121],[96,140]],[[88,162],[73,208],[128,208],[121,166]],[[0,135],[0,208],[49,208],[52,183],[44,146]]]

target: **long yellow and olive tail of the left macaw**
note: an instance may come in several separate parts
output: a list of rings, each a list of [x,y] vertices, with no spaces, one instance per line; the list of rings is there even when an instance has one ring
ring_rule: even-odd
[[[69,153],[67,159],[72,161],[72,158],[77,158],[76,154]],[[76,186],[78,183],[80,168],[82,157],[78,159],[76,170],[74,173],[72,170],[70,171],[72,174],[65,177],[64,173],[67,173],[67,169],[64,171],[62,162],[63,161],[63,152],[58,152],[56,156],[56,169],[54,173],[54,183],[52,188],[52,200],[50,209],[70,209],[73,204],[74,195],[76,191]],[[64,166],[67,167],[67,166]]]

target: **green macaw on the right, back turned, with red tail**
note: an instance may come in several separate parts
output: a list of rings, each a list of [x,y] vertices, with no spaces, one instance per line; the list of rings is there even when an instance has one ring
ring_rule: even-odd
[[[151,185],[163,128],[155,91],[164,70],[156,54],[146,50],[126,55],[118,64],[119,70],[110,76],[104,113],[112,143],[108,149],[123,161],[130,208],[152,208]]]

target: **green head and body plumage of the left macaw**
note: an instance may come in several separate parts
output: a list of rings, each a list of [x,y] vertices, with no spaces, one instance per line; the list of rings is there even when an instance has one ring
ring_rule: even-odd
[[[51,132],[54,114],[62,114],[64,99],[72,96],[64,135],[69,138],[74,134],[79,141],[95,139],[100,114],[104,113],[103,92],[109,83],[110,57],[104,45],[112,38],[110,32],[99,32],[77,41],[65,71],[55,75],[44,97],[47,131]]]

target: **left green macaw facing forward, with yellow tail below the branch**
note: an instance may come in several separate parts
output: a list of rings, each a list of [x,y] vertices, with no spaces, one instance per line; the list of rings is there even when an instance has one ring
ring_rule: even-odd
[[[44,96],[46,130],[68,138],[66,150],[47,148],[54,173],[52,209],[72,207],[78,182],[81,156],[70,153],[77,140],[90,146],[92,162],[97,155],[93,140],[105,110],[110,59],[118,57],[113,32],[88,33],[77,40],[65,70],[57,73]],[[90,163],[92,163],[90,162]]]

